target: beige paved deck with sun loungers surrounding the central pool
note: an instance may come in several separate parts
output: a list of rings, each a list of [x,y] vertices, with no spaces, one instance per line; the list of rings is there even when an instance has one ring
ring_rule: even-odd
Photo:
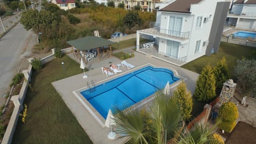
[[[75,59],[72,53],[69,53],[68,55],[71,58],[73,57],[73,59]],[[141,67],[143,65],[147,65],[148,63],[156,67],[170,68],[173,72],[177,71],[180,77],[185,78],[187,87],[192,93],[195,91],[196,79],[199,76],[197,73],[194,73],[193,71],[189,71],[187,69],[183,69],[178,66],[174,66],[170,63],[167,63],[155,58],[148,57],[145,54],[134,52],[134,55],[135,55],[134,58],[127,59],[126,61],[134,65],[135,68]],[[77,62],[79,62],[79,60],[77,60]],[[55,89],[61,95],[63,101],[65,101],[68,108],[72,111],[74,116],[77,118],[77,121],[79,122],[79,124],[83,127],[85,132],[89,135],[93,143],[123,143],[123,142],[122,140],[110,140],[107,138],[110,128],[102,127],[95,120],[95,118],[89,113],[89,111],[82,105],[82,103],[76,98],[76,96],[73,94],[73,91],[76,91],[83,87],[87,87],[86,86],[87,82],[91,83],[92,80],[95,82],[95,85],[97,85],[104,81],[108,81],[109,79],[113,79],[118,76],[129,73],[129,71],[132,71],[135,69],[135,68],[127,69],[127,67],[121,67],[120,69],[123,71],[122,73],[118,73],[117,75],[112,75],[107,77],[105,74],[102,74],[101,67],[103,66],[109,67],[110,65],[109,62],[115,63],[115,65],[117,65],[118,63],[121,63],[121,60],[113,57],[113,58],[109,58],[99,62],[98,59],[94,59],[90,61],[86,66],[86,68],[91,69],[89,71],[86,71],[86,75],[89,76],[88,78],[85,78],[85,79],[82,78],[83,73],[81,73],[81,74],[71,76],[65,79],[61,79],[59,81],[52,83]]]

